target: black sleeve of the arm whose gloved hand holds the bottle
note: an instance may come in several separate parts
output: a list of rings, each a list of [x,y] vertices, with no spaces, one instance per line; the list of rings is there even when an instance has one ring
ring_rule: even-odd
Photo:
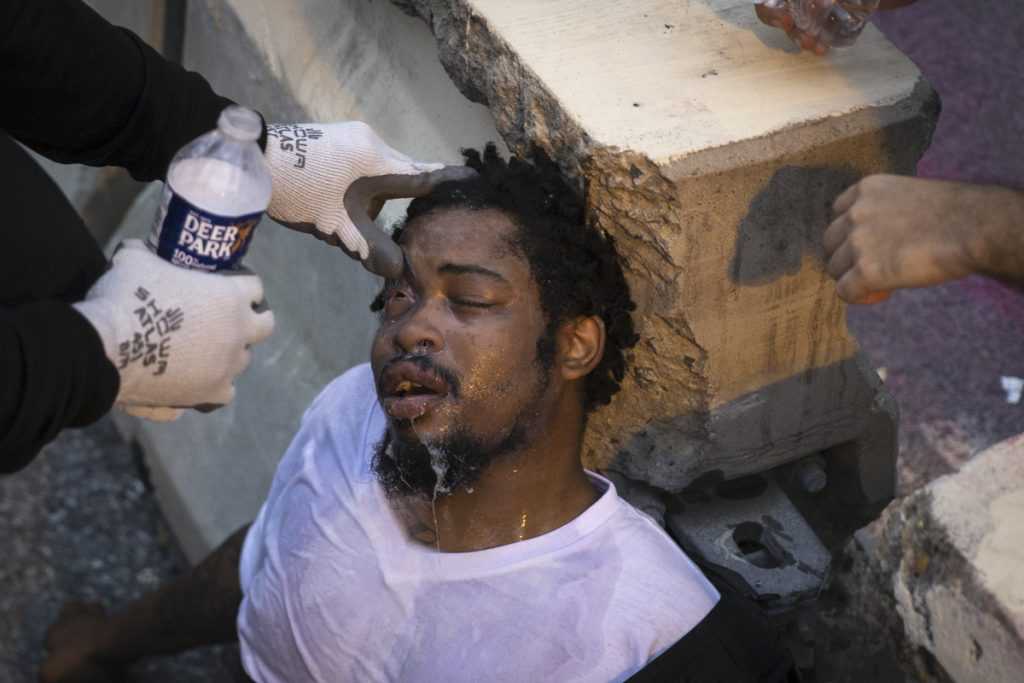
[[[0,472],[25,467],[63,427],[98,420],[118,372],[99,335],[62,301],[0,306]]]

